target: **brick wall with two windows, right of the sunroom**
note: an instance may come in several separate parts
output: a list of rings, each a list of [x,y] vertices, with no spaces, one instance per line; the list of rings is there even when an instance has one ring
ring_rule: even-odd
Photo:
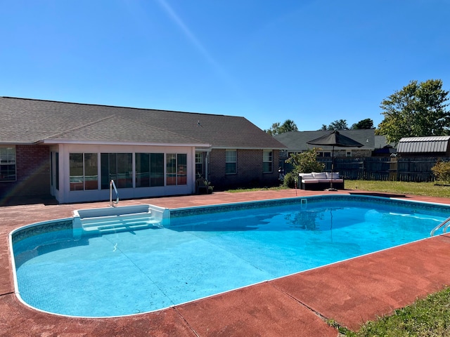
[[[270,187],[278,181],[278,150],[273,153],[272,173],[262,173],[263,150],[237,150],[237,173],[225,174],[225,150],[212,150],[210,153],[209,180],[214,190],[233,187]]]

